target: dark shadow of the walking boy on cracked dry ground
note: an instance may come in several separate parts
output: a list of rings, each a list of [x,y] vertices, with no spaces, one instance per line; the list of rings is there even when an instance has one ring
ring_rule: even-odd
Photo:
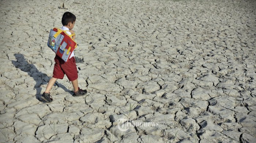
[[[33,64],[29,64],[26,59],[24,58],[24,55],[22,54],[14,54],[15,58],[17,59],[16,61],[12,61],[12,64],[16,67],[19,68],[21,71],[28,72],[28,75],[30,75],[34,80],[36,81],[36,84],[34,86],[34,89],[36,89],[36,98],[39,101],[43,101],[41,99],[41,90],[42,88],[40,87],[42,84],[47,84],[48,80],[51,78],[47,76],[46,74],[38,71],[36,69],[36,66]],[[68,90],[64,85],[55,82],[55,84],[62,88],[66,92],[71,92]]]

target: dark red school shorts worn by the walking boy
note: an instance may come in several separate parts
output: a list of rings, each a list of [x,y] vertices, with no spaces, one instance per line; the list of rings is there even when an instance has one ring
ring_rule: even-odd
[[[63,61],[59,56],[54,58],[55,65],[53,70],[54,78],[63,79],[64,74],[67,75],[68,80],[73,81],[78,78],[78,72],[76,69],[76,59],[74,57],[68,59],[68,61]]]

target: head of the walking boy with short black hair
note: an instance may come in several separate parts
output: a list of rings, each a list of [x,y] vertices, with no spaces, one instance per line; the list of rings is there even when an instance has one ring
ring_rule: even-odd
[[[76,22],[76,16],[71,12],[65,12],[62,16],[61,22],[63,26],[66,26],[71,30]]]

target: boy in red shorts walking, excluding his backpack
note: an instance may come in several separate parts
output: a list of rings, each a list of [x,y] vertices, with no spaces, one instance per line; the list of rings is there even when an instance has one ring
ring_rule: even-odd
[[[76,16],[72,14],[71,12],[65,12],[62,16],[62,30],[70,30],[66,31],[67,34],[71,35],[75,32],[72,30],[74,28],[75,22],[76,22]],[[74,40],[76,38],[76,35],[72,36],[72,39]],[[70,59],[68,61],[63,61],[60,57],[57,55],[54,58],[55,65],[54,65],[54,71],[53,76],[49,80],[45,92],[42,94],[41,98],[46,102],[52,102],[52,96],[50,95],[50,89],[54,85],[57,79],[63,79],[64,74],[68,77],[68,80],[72,82],[72,85],[74,87],[74,97],[83,96],[87,94],[86,90],[82,90],[78,87],[78,72],[76,68],[76,60],[74,58],[74,51],[70,55]]]

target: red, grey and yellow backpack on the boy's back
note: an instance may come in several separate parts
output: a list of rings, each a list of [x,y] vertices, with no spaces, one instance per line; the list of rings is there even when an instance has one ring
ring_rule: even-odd
[[[76,49],[76,42],[72,39],[72,35],[68,35],[65,30],[51,29],[48,47],[52,49],[65,62],[68,61],[71,53]]]

